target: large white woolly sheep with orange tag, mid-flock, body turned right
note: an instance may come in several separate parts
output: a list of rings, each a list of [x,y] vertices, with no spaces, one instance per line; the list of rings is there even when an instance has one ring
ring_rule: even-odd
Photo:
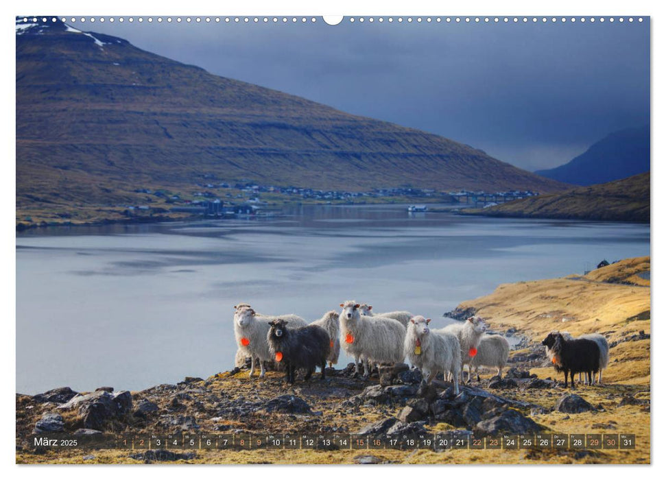
[[[405,327],[392,318],[368,317],[359,312],[360,305],[353,300],[341,303],[340,344],[354,357],[355,375],[359,374],[359,359],[364,376],[370,374],[368,362],[399,363],[403,361]]]

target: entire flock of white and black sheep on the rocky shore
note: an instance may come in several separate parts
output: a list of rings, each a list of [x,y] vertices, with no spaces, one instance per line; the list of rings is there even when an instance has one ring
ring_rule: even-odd
[[[295,372],[306,371],[308,380],[317,367],[326,375],[326,363],[333,366],[340,348],[354,358],[355,375],[367,377],[374,365],[409,361],[419,368],[428,383],[437,374],[453,382],[459,392],[459,378],[464,382],[464,366],[468,366],[468,381],[480,366],[497,368],[501,378],[509,356],[509,344],[501,335],[486,333],[486,323],[480,317],[444,328],[429,328],[430,319],[408,311],[374,313],[372,305],[349,300],[340,304],[342,311],[328,311],[314,322],[307,323],[294,314],[263,315],[249,304],[234,307],[234,333],[238,350],[236,366],[251,359],[250,377],[259,362],[259,376],[265,375],[265,362],[285,365],[287,381],[295,381]],[[558,372],[567,376],[586,373],[588,382],[608,365],[608,342],[599,334],[573,339],[568,333],[551,333],[543,342],[546,352]]]

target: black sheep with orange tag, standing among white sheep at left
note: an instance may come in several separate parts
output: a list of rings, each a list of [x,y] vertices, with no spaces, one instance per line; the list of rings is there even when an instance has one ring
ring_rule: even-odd
[[[322,380],[326,378],[326,358],[331,350],[331,339],[324,328],[307,325],[287,328],[286,320],[268,322],[268,349],[273,359],[284,363],[287,381],[294,383],[296,369],[305,368],[305,380],[309,380],[316,368],[322,368]]]

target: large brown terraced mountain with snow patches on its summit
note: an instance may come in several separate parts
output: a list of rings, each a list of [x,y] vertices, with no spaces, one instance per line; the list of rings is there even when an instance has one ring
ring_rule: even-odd
[[[212,75],[121,38],[50,17],[16,22],[17,211],[137,202],[137,188],[195,191],[211,179],[346,191],[566,188],[462,143]]]

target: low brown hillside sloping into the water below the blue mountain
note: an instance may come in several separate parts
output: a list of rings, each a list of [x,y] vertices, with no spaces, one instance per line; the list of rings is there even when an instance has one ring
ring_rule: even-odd
[[[474,211],[490,217],[536,217],[650,223],[650,172],[615,182],[538,195]]]

